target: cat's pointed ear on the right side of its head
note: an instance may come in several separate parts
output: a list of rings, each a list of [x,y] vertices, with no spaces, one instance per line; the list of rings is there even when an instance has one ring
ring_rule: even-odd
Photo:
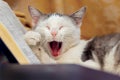
[[[75,22],[78,26],[81,26],[82,19],[83,19],[85,12],[86,12],[86,7],[82,7],[80,10],[78,10],[75,13],[73,13],[72,15],[70,15],[75,20]]]

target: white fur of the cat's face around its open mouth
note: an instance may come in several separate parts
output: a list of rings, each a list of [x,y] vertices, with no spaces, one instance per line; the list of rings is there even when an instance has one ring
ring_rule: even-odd
[[[47,26],[50,27],[50,30],[47,29]],[[63,26],[59,30],[60,26]],[[55,38],[51,35],[51,31],[55,30],[57,35]],[[59,15],[52,15],[50,18],[41,21],[37,24],[35,29],[36,32],[41,34],[41,44],[44,47],[45,51],[51,56],[50,49],[48,47],[48,42],[50,41],[59,41],[63,42],[62,52],[65,53],[69,48],[79,43],[80,39],[80,30],[69,17],[61,17]]]

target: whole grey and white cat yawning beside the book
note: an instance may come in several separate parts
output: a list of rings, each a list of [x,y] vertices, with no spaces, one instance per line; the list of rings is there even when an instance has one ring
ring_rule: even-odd
[[[29,6],[34,29],[25,40],[43,64],[75,63],[120,74],[120,34],[80,39],[86,8],[71,15],[43,14]]]

